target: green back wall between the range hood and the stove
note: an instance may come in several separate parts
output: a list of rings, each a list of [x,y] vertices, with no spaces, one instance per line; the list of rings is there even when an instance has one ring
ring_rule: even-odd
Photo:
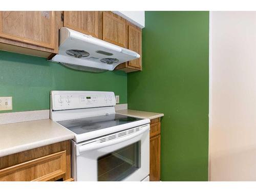
[[[49,109],[51,90],[114,91],[126,103],[127,76],[76,71],[45,58],[0,51],[0,96],[13,97],[13,110],[2,113]]]

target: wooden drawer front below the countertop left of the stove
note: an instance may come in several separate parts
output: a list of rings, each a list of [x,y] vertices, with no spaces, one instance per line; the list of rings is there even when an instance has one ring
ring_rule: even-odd
[[[48,181],[66,174],[66,151],[0,170],[0,181]]]

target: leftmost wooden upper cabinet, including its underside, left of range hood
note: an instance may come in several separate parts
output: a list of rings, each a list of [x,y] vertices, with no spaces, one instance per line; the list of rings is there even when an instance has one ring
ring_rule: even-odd
[[[49,57],[58,53],[62,11],[0,11],[0,50]]]

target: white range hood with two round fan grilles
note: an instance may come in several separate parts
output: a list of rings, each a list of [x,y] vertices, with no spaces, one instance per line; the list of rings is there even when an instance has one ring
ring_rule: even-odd
[[[132,50],[61,27],[59,51],[51,61],[69,68],[91,72],[112,71],[120,63],[139,58]]]

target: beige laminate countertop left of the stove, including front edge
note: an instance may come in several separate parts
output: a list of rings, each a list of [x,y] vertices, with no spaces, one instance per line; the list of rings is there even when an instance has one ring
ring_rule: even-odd
[[[0,125],[0,157],[73,139],[73,132],[51,119]]]

